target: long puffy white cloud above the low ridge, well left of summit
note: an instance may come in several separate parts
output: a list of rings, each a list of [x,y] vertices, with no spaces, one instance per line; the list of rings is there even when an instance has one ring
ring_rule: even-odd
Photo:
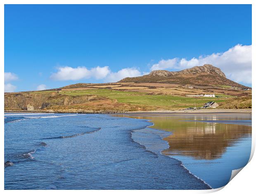
[[[86,67],[78,66],[77,68],[72,68],[69,66],[59,67],[57,73],[53,73],[50,78],[53,80],[80,80],[82,78],[95,78],[103,79],[110,73],[109,67],[94,67],[92,69],[87,69]]]

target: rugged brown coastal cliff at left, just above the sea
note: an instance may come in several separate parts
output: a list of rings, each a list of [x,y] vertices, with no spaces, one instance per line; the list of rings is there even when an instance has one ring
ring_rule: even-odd
[[[115,113],[140,110],[140,107],[97,95],[70,96],[59,92],[5,94],[5,111]]]

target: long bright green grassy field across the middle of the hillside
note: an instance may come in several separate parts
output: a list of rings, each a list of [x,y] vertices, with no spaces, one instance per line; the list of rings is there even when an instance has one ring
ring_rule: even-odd
[[[97,89],[97,90],[77,90],[77,91],[61,91],[63,95],[98,95],[109,97],[110,99],[116,99],[118,102],[142,105],[142,106],[161,106],[161,107],[176,107],[176,108],[187,108],[204,106],[206,102],[215,101],[223,102],[225,98],[209,98],[209,97],[179,97],[171,95],[149,95],[141,92],[123,92],[108,89]]]

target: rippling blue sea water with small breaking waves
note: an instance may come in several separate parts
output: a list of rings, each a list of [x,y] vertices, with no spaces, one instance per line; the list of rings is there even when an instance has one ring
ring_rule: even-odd
[[[5,189],[210,189],[145,119],[5,114]],[[7,162],[8,161],[8,162]]]

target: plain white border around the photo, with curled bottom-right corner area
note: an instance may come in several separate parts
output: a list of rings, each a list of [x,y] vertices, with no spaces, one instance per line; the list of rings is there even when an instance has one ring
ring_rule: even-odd
[[[2,109],[1,116],[0,116],[0,125],[2,126],[0,128],[1,130],[1,162],[4,163],[4,4],[252,4],[252,45],[255,43],[255,35],[256,35],[256,3],[253,0],[2,0],[1,1],[1,7],[0,7],[0,34],[1,34],[1,47],[0,47],[0,60],[1,60],[1,72],[0,72],[0,90],[1,90],[1,103],[0,107]],[[252,51],[254,51],[254,46],[252,46]],[[252,52],[254,53],[254,52]],[[252,72],[255,72],[255,57],[252,55]],[[252,76],[252,85],[255,84],[254,76]],[[253,104],[254,104],[254,96],[255,91],[252,90],[253,93]],[[252,109],[253,117],[254,117],[254,106]],[[255,150],[255,132],[254,132],[254,119],[252,122],[252,152],[251,157],[253,156],[254,150]],[[153,193],[153,192],[161,192],[161,193],[211,193],[216,192],[218,193],[252,193],[254,191],[254,173],[256,172],[256,159],[253,157],[251,161],[245,166],[241,172],[239,172],[238,176],[235,176],[234,179],[231,180],[228,185],[226,185],[223,189],[212,189],[212,190],[135,190],[132,192],[135,193]],[[4,168],[1,168],[1,189],[4,190]],[[5,190],[6,193],[32,193],[35,192],[33,190],[21,190],[21,191],[11,191],[11,190]],[[44,190],[37,191],[38,193],[44,193]],[[57,192],[57,193],[69,193],[69,192],[77,192],[77,193],[119,193],[120,191],[117,190],[57,190],[52,191],[49,190],[47,192]],[[130,193],[129,190],[123,190],[122,193]]]

